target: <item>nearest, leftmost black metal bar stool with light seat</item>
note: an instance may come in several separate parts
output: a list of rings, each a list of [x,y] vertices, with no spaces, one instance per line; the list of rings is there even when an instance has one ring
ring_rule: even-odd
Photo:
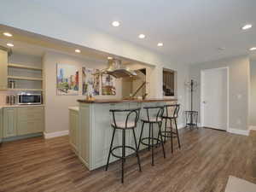
[[[122,179],[121,179],[122,183],[124,183],[124,166],[125,166],[125,157],[126,157],[125,149],[126,148],[130,148],[135,151],[135,153],[137,155],[137,164],[139,166],[139,171],[142,172],[140,158],[139,158],[139,154],[138,154],[137,138],[136,138],[135,131],[134,131],[134,129],[137,127],[140,110],[141,110],[141,108],[132,108],[132,109],[124,109],[124,110],[119,110],[119,109],[109,110],[113,114],[113,122],[111,124],[111,126],[113,127],[113,136],[111,139],[110,148],[109,148],[109,152],[108,152],[108,161],[107,161],[106,171],[108,171],[110,154],[112,154],[116,158],[121,159],[122,160]],[[119,113],[119,114],[127,113],[125,121],[116,121],[116,113]],[[116,146],[113,148],[113,138],[114,138],[116,130],[122,131],[122,145]],[[132,130],[132,132],[133,132],[135,148],[125,145],[125,131],[128,131],[128,130]],[[113,153],[113,151],[118,148],[122,148],[122,156]]]

